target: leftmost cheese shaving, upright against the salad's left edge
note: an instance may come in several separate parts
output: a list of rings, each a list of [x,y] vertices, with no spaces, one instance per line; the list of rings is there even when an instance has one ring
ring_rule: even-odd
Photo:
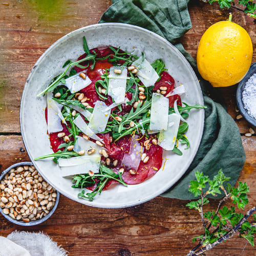
[[[66,121],[61,114],[62,105],[52,99],[52,93],[47,94],[47,130],[48,133],[56,133],[63,130],[61,121]]]

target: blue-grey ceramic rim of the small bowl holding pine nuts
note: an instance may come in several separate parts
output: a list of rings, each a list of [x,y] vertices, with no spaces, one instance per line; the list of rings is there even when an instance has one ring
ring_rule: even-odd
[[[5,175],[8,172],[10,172],[10,170],[12,168],[15,168],[15,167],[20,166],[20,165],[33,165],[33,163],[32,162],[20,162],[20,163],[16,163],[16,164],[11,165],[9,168],[7,168],[6,170],[3,171],[3,173],[0,176],[0,180],[2,180],[5,177]],[[38,225],[38,224],[46,221],[47,219],[49,219],[52,216],[53,212],[56,210],[58,202],[59,202],[59,192],[56,191],[56,193],[57,193],[57,197],[56,197],[56,202],[55,202],[53,208],[51,209],[51,211],[49,212],[49,214],[46,217],[43,217],[43,218],[41,218],[39,220],[31,221],[31,222],[28,222],[28,223],[27,222],[23,222],[23,221],[17,221],[17,220],[14,220],[13,218],[11,218],[9,215],[4,214],[3,213],[3,209],[1,207],[0,207],[0,212],[8,221],[10,221],[10,222],[12,222],[14,224],[17,224],[17,225],[20,225],[20,226],[34,226],[34,225]]]

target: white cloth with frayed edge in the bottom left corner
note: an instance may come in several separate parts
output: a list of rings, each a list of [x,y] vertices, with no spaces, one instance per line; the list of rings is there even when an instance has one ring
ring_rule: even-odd
[[[67,256],[47,234],[14,231],[7,238],[0,237],[0,256]]]

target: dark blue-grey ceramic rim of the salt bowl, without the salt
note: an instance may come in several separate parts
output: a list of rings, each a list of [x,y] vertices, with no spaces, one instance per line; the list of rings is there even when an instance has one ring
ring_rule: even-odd
[[[244,108],[244,103],[242,100],[243,97],[243,90],[245,87],[245,83],[248,81],[248,79],[256,72],[256,62],[254,62],[245,77],[239,82],[238,89],[237,89],[237,105],[240,113],[242,116],[252,125],[256,126],[256,119],[251,117],[247,110]]]

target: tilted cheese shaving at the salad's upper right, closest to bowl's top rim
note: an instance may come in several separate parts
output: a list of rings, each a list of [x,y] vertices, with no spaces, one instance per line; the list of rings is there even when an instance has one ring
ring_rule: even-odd
[[[137,76],[140,78],[145,87],[154,86],[155,82],[159,78],[159,75],[151,66],[150,62],[148,62],[145,58],[144,61],[142,61],[141,56],[132,63],[132,66],[135,66],[138,69]]]

